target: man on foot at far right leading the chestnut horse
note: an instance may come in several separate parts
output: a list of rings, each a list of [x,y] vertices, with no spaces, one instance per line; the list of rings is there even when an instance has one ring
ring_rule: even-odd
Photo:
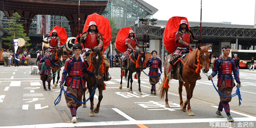
[[[209,76],[209,80],[212,80],[214,76],[218,74],[218,90],[220,93],[224,95],[231,95],[233,87],[235,86],[234,78],[232,76],[232,72],[234,73],[234,77],[236,80],[236,86],[241,85],[239,74],[237,71],[236,61],[233,58],[230,58],[228,55],[230,53],[230,46],[224,44],[222,46],[222,56],[216,58],[214,60],[214,68],[212,74]],[[220,95],[220,103],[218,110],[215,112],[219,117],[224,117],[220,112],[222,112],[223,108],[227,115],[228,121],[234,121],[234,119],[230,116],[230,107],[228,102],[231,101],[230,98],[226,98]]]

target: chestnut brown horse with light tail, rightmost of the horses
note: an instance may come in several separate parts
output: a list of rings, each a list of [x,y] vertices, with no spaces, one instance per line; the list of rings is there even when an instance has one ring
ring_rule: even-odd
[[[180,63],[176,63],[177,69],[174,70],[174,79],[179,80],[179,94],[180,94],[180,109],[186,112],[186,106],[188,105],[188,115],[194,116],[194,113],[190,107],[190,99],[193,96],[193,90],[196,86],[196,80],[200,76],[200,68],[202,67],[202,72],[207,73],[209,71],[208,65],[210,62],[209,59],[209,46],[198,46],[194,51],[185,56],[184,64],[182,69],[179,69]],[[160,91],[160,98],[164,98],[164,94],[166,94],[165,98],[165,106],[170,107],[168,104],[168,70],[169,70],[169,60],[171,54],[167,56],[167,60],[164,63],[164,79],[160,84],[158,91]],[[200,67],[201,65],[201,67]],[[182,70],[182,72],[180,71]],[[185,83],[184,83],[185,82]],[[187,100],[183,103],[182,100],[182,85],[186,88]]]

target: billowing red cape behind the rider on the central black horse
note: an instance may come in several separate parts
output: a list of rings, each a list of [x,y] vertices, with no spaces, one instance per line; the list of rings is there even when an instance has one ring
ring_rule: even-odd
[[[127,46],[125,45],[125,39],[128,38],[130,30],[132,30],[131,27],[125,27],[125,28],[121,28],[118,31],[118,34],[116,36],[116,43],[115,43],[115,45],[116,45],[116,49],[119,52],[124,53],[127,50]],[[136,38],[136,36],[135,36],[135,38]]]

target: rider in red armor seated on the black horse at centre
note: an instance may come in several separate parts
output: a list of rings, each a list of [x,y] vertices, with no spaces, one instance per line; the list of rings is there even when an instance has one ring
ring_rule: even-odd
[[[136,46],[138,46],[139,48],[143,48],[143,47],[146,47],[147,45],[145,44],[144,46],[143,45],[140,45],[139,44],[139,41],[137,38],[135,38],[135,34],[133,32],[133,30],[130,30],[129,31],[129,35],[128,37],[125,39],[125,44],[127,46],[127,50],[124,52],[123,54],[123,65],[121,66],[121,69],[122,70],[125,70],[126,69],[126,63],[127,63],[127,56],[130,54],[130,52],[135,52],[136,51]],[[127,67],[128,68],[128,67]]]

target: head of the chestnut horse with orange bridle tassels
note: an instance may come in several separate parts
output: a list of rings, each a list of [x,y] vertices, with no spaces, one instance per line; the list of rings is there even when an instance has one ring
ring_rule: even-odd
[[[209,65],[209,48],[210,48],[210,44],[209,46],[203,46],[200,47],[199,45],[197,46],[198,50],[199,50],[199,60],[200,60],[200,64],[202,66],[202,71],[204,73],[207,73],[209,71],[208,65]]]

